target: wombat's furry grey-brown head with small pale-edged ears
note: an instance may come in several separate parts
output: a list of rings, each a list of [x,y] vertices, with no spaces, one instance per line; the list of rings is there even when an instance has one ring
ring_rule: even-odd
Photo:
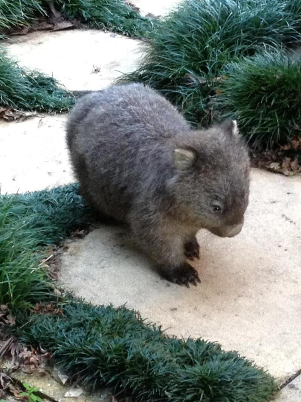
[[[236,121],[179,136],[169,182],[187,223],[222,237],[240,232],[248,205],[250,162]]]

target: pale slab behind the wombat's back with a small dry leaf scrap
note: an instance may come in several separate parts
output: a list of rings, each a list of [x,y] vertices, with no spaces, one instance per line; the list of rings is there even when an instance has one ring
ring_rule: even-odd
[[[68,90],[97,90],[136,70],[143,42],[96,29],[34,32],[2,45],[20,66],[53,75]]]

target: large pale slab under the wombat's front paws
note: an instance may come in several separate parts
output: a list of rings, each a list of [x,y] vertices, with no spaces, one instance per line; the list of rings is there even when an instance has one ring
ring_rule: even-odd
[[[124,229],[68,243],[61,281],[95,304],[124,303],[177,336],[201,336],[280,379],[301,367],[301,179],[253,170],[250,206],[232,239],[199,232],[197,287],[161,280]]]

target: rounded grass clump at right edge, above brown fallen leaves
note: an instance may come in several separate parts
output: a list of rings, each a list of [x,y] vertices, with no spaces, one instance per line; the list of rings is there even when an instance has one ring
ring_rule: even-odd
[[[264,52],[224,70],[214,100],[223,117],[237,119],[250,143],[286,143],[301,132],[301,59]]]

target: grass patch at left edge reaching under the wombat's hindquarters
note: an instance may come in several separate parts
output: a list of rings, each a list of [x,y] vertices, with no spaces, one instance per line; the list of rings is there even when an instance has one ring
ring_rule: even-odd
[[[20,195],[0,195],[0,304],[16,312],[53,299],[41,264],[43,246],[87,225],[89,209],[75,185]]]

